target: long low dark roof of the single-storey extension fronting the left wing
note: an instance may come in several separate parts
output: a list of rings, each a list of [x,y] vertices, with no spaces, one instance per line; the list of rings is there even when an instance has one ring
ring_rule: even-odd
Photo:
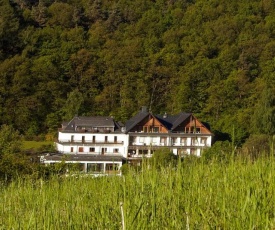
[[[45,155],[44,160],[47,161],[91,161],[91,162],[121,162],[124,160],[122,156],[106,156],[106,155],[86,155],[86,154],[54,154]]]

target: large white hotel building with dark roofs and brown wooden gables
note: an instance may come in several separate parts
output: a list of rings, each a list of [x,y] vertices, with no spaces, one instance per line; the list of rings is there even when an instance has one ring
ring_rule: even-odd
[[[94,167],[105,172],[164,148],[177,156],[201,156],[211,143],[212,133],[192,114],[154,116],[143,108],[125,126],[112,117],[74,117],[58,133],[58,154],[44,162],[59,162],[66,155],[67,163],[81,163],[85,172]]]

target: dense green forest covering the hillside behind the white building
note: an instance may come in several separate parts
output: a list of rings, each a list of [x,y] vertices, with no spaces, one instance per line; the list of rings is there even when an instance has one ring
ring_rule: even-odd
[[[35,136],[145,105],[237,144],[273,135],[274,38],[272,0],[0,0],[0,125]]]

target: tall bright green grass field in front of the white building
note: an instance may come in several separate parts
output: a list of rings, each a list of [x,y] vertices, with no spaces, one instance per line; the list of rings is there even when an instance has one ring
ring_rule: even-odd
[[[274,197],[273,158],[18,179],[0,188],[0,229],[272,229]]]

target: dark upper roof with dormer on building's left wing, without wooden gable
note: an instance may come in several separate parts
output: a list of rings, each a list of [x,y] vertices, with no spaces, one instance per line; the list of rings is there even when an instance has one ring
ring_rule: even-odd
[[[75,127],[110,127],[114,128],[118,124],[112,117],[92,116],[92,117],[74,117],[64,129],[64,131],[73,131]]]

